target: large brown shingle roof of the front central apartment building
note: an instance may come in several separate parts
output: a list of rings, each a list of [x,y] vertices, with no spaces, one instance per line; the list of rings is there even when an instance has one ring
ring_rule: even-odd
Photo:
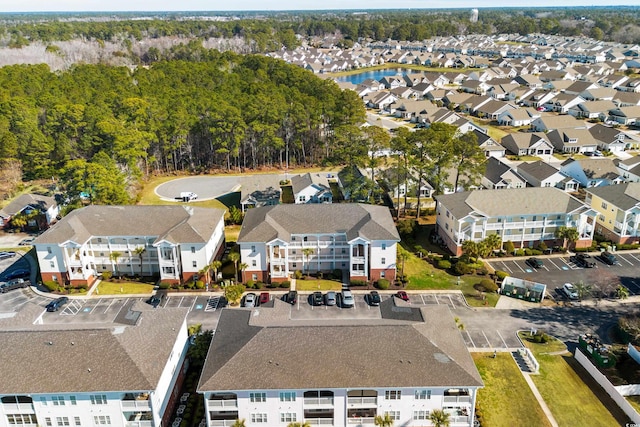
[[[285,305],[223,310],[198,391],[483,385],[446,307],[422,308],[417,322],[264,320]]]

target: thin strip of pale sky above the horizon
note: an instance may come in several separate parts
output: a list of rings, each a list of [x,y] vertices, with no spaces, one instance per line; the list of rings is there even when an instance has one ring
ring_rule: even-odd
[[[638,0],[0,0],[0,12],[316,10],[638,5]]]

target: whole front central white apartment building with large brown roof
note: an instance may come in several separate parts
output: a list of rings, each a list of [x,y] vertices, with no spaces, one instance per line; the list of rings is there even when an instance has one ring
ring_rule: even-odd
[[[382,305],[404,304],[394,300]],[[483,383],[450,311],[403,309],[413,323],[300,325],[279,300],[224,310],[197,389],[207,425],[373,427],[386,413],[394,425],[417,427],[443,409],[450,426],[472,426]]]

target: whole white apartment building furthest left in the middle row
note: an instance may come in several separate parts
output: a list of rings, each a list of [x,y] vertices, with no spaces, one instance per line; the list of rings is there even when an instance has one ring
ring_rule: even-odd
[[[110,271],[184,282],[222,255],[224,211],[91,205],[69,213],[34,246],[44,281],[91,285]]]

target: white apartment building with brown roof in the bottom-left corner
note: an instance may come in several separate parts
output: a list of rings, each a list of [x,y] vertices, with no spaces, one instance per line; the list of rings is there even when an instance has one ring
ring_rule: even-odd
[[[140,310],[110,329],[1,331],[0,427],[167,425],[184,376],[186,310]]]

